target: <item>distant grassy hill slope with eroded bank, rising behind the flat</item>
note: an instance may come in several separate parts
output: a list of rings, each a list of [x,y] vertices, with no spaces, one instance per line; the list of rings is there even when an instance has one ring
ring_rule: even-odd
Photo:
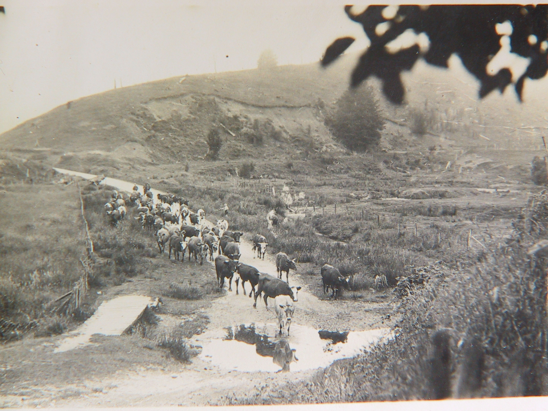
[[[349,55],[327,70],[318,64],[280,66],[114,89],[67,102],[3,133],[0,147],[64,152],[54,161],[83,171],[89,171],[84,164],[108,169],[124,161],[203,158],[212,127],[221,130],[221,159],[337,149],[323,118],[347,89],[355,61]],[[465,72],[418,64],[404,76],[408,104],[393,106],[377,91],[383,115],[392,121],[383,144],[405,150],[422,144],[420,133],[426,132],[461,147],[538,146],[548,123],[546,83],[531,82],[538,93],[524,104],[498,93],[478,101],[477,84]]]

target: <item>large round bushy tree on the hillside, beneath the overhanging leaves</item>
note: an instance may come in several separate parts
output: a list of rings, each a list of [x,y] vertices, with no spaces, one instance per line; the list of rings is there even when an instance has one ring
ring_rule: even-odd
[[[335,112],[326,117],[329,131],[353,151],[366,151],[379,144],[384,120],[373,89],[362,84],[347,90],[336,102]]]

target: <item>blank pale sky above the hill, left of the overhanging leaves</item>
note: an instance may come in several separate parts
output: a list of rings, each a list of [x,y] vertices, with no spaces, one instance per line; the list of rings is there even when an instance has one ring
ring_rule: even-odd
[[[115,79],[255,68],[267,48],[280,65],[310,63],[337,37],[357,38],[349,52],[368,43],[340,0],[0,3],[0,133]]]

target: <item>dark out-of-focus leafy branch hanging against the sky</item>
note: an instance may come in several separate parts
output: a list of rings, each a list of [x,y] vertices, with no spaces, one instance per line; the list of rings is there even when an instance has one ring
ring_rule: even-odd
[[[369,76],[376,76],[383,82],[383,93],[387,99],[401,104],[404,87],[400,74],[411,70],[415,62],[423,57],[429,64],[448,67],[449,57],[458,55],[473,76],[481,83],[479,97],[483,98],[494,89],[502,93],[512,81],[510,70],[503,68],[490,76],[486,66],[500,49],[501,35],[495,25],[509,21],[513,31],[510,35],[511,52],[530,58],[529,66],[515,84],[516,93],[522,99],[523,82],[526,78],[539,79],[548,71],[548,5],[404,5],[391,19],[382,15],[386,5],[370,5],[361,14],[352,14],[351,6],[345,6],[350,19],[363,26],[371,44],[359,59],[351,75],[351,86],[356,87]],[[378,24],[389,22],[386,32],[375,33]],[[420,53],[418,45],[391,54],[385,45],[404,31],[426,33],[430,48]],[[535,38],[530,37],[535,36]],[[535,41],[536,40],[536,41]],[[352,37],[336,39],[322,58],[327,66],[352,44]]]

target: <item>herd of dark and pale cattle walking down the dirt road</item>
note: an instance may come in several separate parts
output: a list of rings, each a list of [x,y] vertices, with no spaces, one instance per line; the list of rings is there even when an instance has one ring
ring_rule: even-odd
[[[127,214],[126,206],[136,207],[138,213],[134,218],[140,220],[143,230],[153,231],[157,239],[160,254],[165,247],[169,247],[168,258],[184,262],[188,251],[189,261],[203,264],[203,260],[214,261],[219,288],[224,287],[225,279],[229,282],[229,291],[232,291],[232,279],[235,277],[236,294],[238,294],[239,281],[242,283],[244,295],[247,294],[244,284],[249,282],[251,290],[249,297],[254,297],[253,307],[256,308],[257,299],[264,295],[265,306],[268,308],[267,299],[274,299],[274,306],[279,325],[279,334],[282,329],[291,325],[294,304],[298,301],[297,294],[301,287],[289,286],[289,270],[296,270],[295,260],[290,259],[286,253],[276,254],[277,277],[261,273],[255,267],[239,261],[240,238],[243,235],[239,231],[229,231],[229,222],[217,220],[213,226],[206,220],[206,212],[203,209],[192,213],[189,202],[174,195],[157,194],[153,197],[149,185],[144,186],[144,193],[138,186],[133,187],[129,198],[124,199],[122,193],[114,191],[112,199],[105,204],[105,212],[112,219],[113,224],[123,219]],[[265,236],[257,234],[253,237],[253,252],[260,259],[265,258],[268,243]],[[218,255],[214,257],[214,254]],[[282,274],[286,273],[286,281]],[[341,275],[338,269],[329,264],[321,268],[324,293],[332,289],[332,297],[336,298],[343,288],[349,288],[349,277]],[[256,289],[255,289],[256,287]]]

